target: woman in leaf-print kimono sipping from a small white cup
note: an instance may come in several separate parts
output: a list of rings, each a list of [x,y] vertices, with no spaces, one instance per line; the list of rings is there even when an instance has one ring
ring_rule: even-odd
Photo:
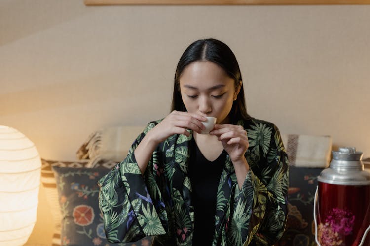
[[[208,135],[205,116],[217,118]],[[192,43],[172,112],[150,122],[99,181],[107,239],[153,245],[271,245],[287,218],[288,159],[275,125],[251,118],[239,65],[219,40]]]

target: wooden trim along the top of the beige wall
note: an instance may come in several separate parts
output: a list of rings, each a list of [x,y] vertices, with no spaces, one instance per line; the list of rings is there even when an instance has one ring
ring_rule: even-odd
[[[370,0],[84,0],[85,5],[317,5],[370,4]]]

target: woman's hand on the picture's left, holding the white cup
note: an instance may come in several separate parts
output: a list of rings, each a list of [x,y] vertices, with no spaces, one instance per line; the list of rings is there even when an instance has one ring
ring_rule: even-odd
[[[207,118],[205,116],[199,114],[190,114],[188,112],[174,110],[151,129],[147,135],[149,135],[148,137],[155,141],[156,144],[159,144],[174,134],[190,136],[190,132],[188,132],[187,129],[200,133],[205,129],[202,121],[206,120]]]

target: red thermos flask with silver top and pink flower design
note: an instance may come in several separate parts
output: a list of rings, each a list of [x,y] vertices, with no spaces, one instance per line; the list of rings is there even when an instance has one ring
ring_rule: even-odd
[[[330,167],[318,176],[316,242],[319,246],[370,246],[366,238],[370,172],[364,170],[362,153],[355,148],[339,148],[332,154]]]

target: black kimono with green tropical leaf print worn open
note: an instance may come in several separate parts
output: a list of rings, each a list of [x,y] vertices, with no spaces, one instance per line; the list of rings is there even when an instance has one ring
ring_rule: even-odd
[[[99,181],[99,207],[111,242],[154,236],[155,246],[191,246],[194,208],[187,172],[192,134],[172,135],[159,144],[144,175],[135,160],[135,148],[159,122],[149,123],[127,157]],[[288,214],[287,154],[272,123],[251,119],[238,124],[247,130],[250,170],[239,189],[226,155],[212,245],[271,245],[283,234]]]

